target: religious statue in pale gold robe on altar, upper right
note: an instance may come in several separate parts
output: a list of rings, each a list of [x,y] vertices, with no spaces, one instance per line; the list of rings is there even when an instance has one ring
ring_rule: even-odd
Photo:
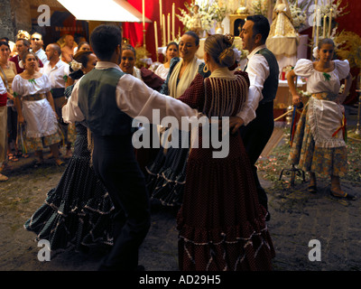
[[[287,0],[277,0],[276,5],[274,5],[272,19],[270,37],[296,37],[296,30],[292,24],[292,14]]]

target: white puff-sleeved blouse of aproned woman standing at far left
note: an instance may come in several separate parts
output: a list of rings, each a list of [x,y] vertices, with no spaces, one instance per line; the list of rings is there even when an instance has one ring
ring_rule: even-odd
[[[17,74],[13,80],[13,90],[19,96],[47,93],[51,91],[51,81],[45,74],[42,74],[40,78],[32,80],[23,79]]]

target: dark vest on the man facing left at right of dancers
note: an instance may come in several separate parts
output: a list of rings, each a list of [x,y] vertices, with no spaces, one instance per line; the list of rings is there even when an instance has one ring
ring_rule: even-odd
[[[257,53],[264,56],[268,66],[270,67],[270,75],[267,79],[265,79],[264,89],[262,90],[262,95],[264,98],[260,101],[261,104],[264,104],[273,101],[273,99],[276,98],[280,70],[273,52],[269,51],[267,48],[264,48],[260,51],[257,51],[256,54]]]

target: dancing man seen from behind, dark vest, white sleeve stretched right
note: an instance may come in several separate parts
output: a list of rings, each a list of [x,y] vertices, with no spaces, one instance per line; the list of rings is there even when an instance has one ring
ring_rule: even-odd
[[[143,172],[134,154],[133,118],[199,117],[175,98],[161,95],[119,68],[122,31],[99,25],[90,36],[97,66],[79,79],[62,109],[66,123],[86,120],[94,139],[93,167],[113,200],[114,245],[99,270],[137,270],[138,251],[150,228],[150,206]]]

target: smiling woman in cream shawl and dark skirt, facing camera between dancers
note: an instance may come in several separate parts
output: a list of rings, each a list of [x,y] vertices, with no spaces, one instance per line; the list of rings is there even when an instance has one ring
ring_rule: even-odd
[[[204,62],[196,57],[199,49],[199,36],[194,32],[184,33],[180,38],[180,58],[171,60],[170,70],[162,85],[161,93],[179,98],[190,87],[198,73],[203,76]],[[161,148],[153,163],[147,166],[147,187],[153,199],[161,200],[163,205],[179,206],[185,182],[185,168],[189,144],[182,144],[180,131],[173,130],[171,135],[179,134],[180,148]],[[184,142],[184,139],[183,139]]]

